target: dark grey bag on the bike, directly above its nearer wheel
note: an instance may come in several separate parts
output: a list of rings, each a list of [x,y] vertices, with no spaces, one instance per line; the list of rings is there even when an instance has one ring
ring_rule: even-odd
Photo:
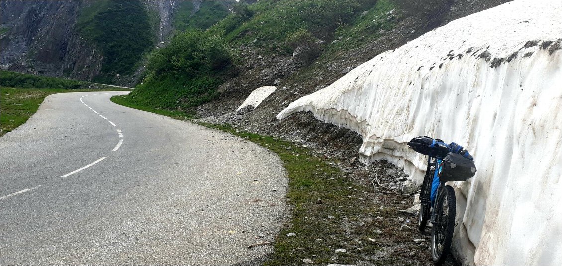
[[[443,168],[439,179],[444,182],[467,181],[474,177],[475,173],[476,165],[473,160],[455,152],[449,152],[443,159]]]

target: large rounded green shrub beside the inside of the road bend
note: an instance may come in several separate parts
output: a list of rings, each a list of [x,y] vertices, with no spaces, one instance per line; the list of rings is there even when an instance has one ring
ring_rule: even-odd
[[[148,57],[147,74],[128,97],[141,106],[184,109],[213,100],[232,56],[223,39],[187,30]]]

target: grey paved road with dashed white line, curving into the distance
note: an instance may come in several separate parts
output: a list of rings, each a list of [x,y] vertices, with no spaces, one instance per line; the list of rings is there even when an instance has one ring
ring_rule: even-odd
[[[284,214],[278,157],[110,102],[124,93],[53,94],[0,139],[1,264],[259,262],[271,246],[247,246]]]

